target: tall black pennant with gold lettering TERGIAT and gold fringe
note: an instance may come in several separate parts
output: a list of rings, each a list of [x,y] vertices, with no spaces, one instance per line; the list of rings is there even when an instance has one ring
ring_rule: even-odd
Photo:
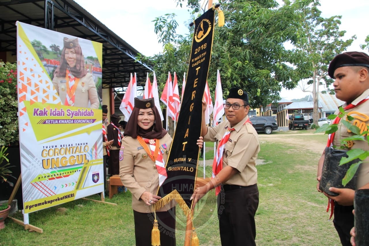
[[[179,194],[188,208],[192,206],[190,197],[194,191],[197,175],[199,146],[196,143],[201,136],[203,108],[201,101],[210,65],[213,30],[214,10],[211,8],[195,20],[186,88],[166,163],[168,178],[158,191],[163,201],[173,198],[180,203],[177,199]],[[168,194],[169,196],[164,198]],[[162,203],[158,204],[160,206]]]

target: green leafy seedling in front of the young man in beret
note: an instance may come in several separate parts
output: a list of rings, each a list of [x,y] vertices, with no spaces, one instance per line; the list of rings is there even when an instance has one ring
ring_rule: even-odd
[[[338,148],[346,148],[345,144],[348,141],[355,141],[355,140],[361,140],[369,144],[369,127],[366,126],[366,131],[362,131],[359,129],[359,127],[354,126],[351,121],[354,120],[354,117],[348,115],[345,113],[345,110],[342,107],[339,107],[340,114],[338,115],[329,115],[328,119],[334,120],[336,117],[341,118],[342,124],[344,124],[345,127],[354,135],[350,137],[346,137],[345,139],[341,140],[341,146],[338,146]],[[342,120],[342,118],[346,116],[346,120]],[[315,133],[321,133],[324,132],[325,134],[331,134],[338,130],[338,124],[324,124],[320,128],[318,128]],[[334,146],[336,147],[336,146]],[[361,163],[364,162],[364,160],[369,156],[369,151],[362,150],[361,148],[353,148],[349,151],[347,151],[348,157],[343,157],[341,161],[339,162],[339,165],[344,165],[352,160],[359,159],[357,163],[354,163],[351,165],[351,167],[347,170],[345,177],[342,179],[342,185],[346,186],[346,184],[354,177],[356,171],[358,170]]]

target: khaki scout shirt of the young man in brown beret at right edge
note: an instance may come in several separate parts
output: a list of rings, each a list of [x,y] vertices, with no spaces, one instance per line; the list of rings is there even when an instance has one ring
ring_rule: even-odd
[[[369,95],[369,89],[365,90],[358,98],[356,98],[352,104],[357,105],[361,100],[365,99]],[[342,107],[347,106],[347,103],[342,105]],[[351,121],[352,124],[359,127],[361,132],[367,131],[369,126],[369,100],[362,103],[359,106],[354,107],[353,109],[345,110],[348,115],[354,117],[354,120]],[[339,110],[335,112],[335,115],[338,115]],[[342,124],[342,120],[346,120],[346,117],[342,118],[338,123],[338,132],[336,132],[335,137],[333,139],[334,146],[341,145],[341,139],[354,135],[354,133],[349,133],[347,128]],[[339,134],[338,134],[339,133]],[[366,136],[365,136],[366,137]],[[352,142],[352,148],[361,148],[362,150],[369,150],[368,143],[360,140],[354,140]],[[365,162],[360,164],[359,167],[359,176],[358,176],[358,183],[357,188],[361,188],[363,185],[369,183],[369,158],[364,160]]]

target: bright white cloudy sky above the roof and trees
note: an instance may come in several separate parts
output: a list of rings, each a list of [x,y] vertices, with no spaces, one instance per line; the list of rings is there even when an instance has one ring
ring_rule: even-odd
[[[177,33],[189,33],[187,26],[190,13],[186,8],[177,7],[174,0],[105,0],[104,4],[97,0],[75,1],[138,52],[146,56],[158,54],[163,50],[162,44],[158,43],[154,22],[152,22],[156,17],[175,13],[178,23]],[[202,3],[203,1],[201,1]],[[362,51],[359,45],[364,44],[365,37],[369,34],[367,28],[369,1],[320,0],[320,3],[321,16],[326,18],[342,16],[340,29],[346,31],[344,39],[351,38],[353,35],[357,36],[347,51]],[[320,91],[322,89],[324,88],[320,88]],[[297,87],[293,90],[282,89],[280,96],[291,100],[303,98],[308,94]]]

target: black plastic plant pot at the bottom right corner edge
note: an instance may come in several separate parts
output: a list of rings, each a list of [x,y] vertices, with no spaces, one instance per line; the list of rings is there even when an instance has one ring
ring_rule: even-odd
[[[355,191],[355,244],[369,245],[369,189]]]

